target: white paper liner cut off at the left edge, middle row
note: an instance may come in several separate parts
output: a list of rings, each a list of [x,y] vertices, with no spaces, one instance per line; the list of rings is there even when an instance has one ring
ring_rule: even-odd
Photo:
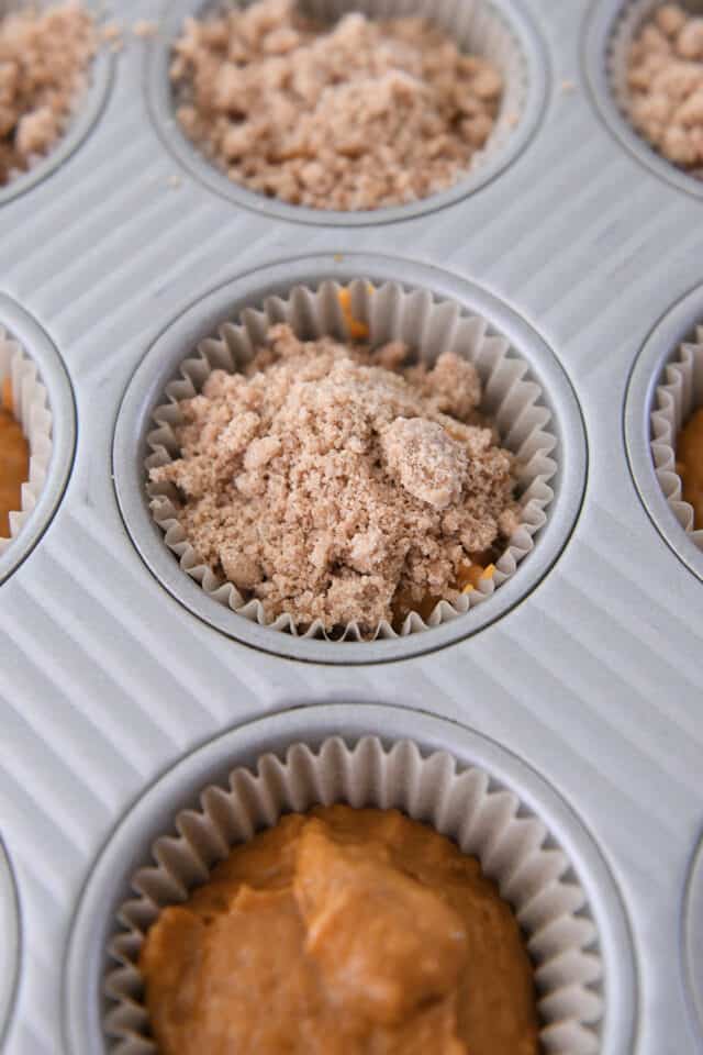
[[[10,537],[0,537],[0,554],[19,535],[36,506],[52,460],[52,414],[35,364],[0,326],[0,389],[10,378],[12,412],[30,446],[30,476],[22,485],[21,508],[10,513]]]

